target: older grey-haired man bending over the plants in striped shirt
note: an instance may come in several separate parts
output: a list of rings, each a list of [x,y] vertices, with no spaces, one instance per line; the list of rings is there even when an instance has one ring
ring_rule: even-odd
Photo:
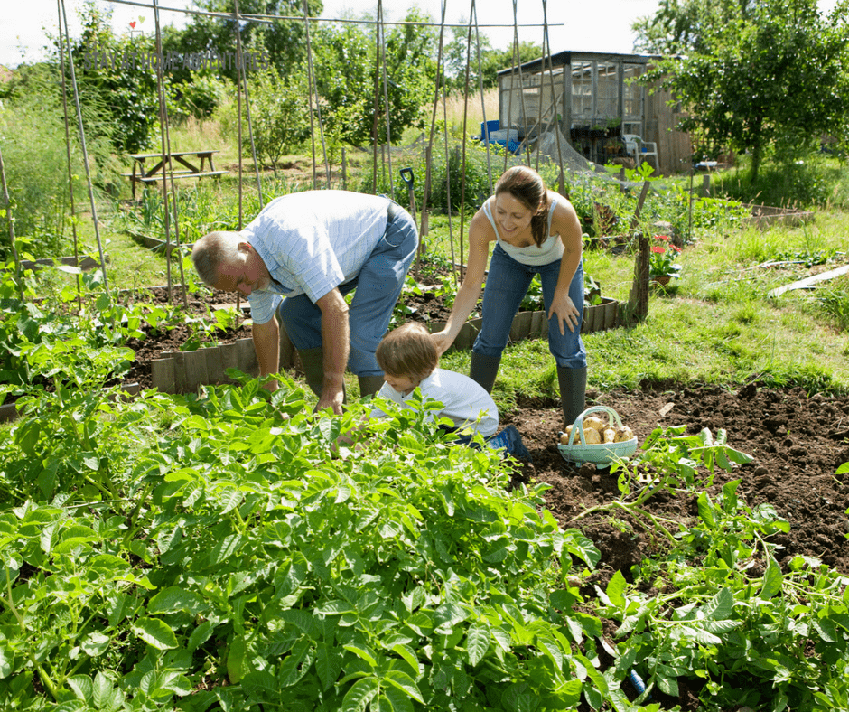
[[[191,259],[207,285],[247,296],[260,374],[279,370],[279,315],[318,408],[341,413],[346,365],[364,396],[383,383],[375,350],[417,247],[415,223],[397,203],[307,191],[271,201],[244,230],[210,232]]]

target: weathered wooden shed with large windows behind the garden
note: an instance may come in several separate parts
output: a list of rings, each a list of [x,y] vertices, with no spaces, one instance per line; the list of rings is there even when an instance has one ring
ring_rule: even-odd
[[[637,135],[657,144],[659,173],[689,171],[690,138],[673,129],[680,115],[667,106],[668,92],[633,81],[655,59],[644,54],[558,52],[550,59],[501,70],[499,128],[514,129],[519,141],[533,142],[557,122],[575,151],[596,164],[626,159],[621,136]]]

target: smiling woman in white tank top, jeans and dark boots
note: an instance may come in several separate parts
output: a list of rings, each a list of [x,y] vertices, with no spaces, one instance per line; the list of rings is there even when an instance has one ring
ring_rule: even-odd
[[[510,168],[469,226],[468,267],[442,332],[434,333],[444,352],[483,291],[483,324],[471,350],[469,375],[492,390],[507,345],[510,325],[534,275],[539,274],[548,316],[548,348],[557,364],[564,425],[583,411],[586,351],[581,340],[583,263],[581,223],[572,203],[549,191],[539,173]]]

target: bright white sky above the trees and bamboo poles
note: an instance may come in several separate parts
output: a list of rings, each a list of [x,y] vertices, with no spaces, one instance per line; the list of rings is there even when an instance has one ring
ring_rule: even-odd
[[[158,0],[160,22],[182,26],[187,15],[169,12],[164,8],[186,8],[193,0]],[[103,7],[113,8],[112,24],[118,34],[154,33],[153,0],[135,0],[126,5],[96,0]],[[821,10],[827,11],[836,0],[819,0]],[[25,62],[43,59],[47,34],[57,33],[57,0],[3,0],[0,10],[0,65],[16,67]],[[82,0],[65,0],[70,34],[79,33],[77,11]],[[441,0],[384,0],[385,22],[404,19],[406,9],[416,5],[435,22],[442,17]],[[548,40],[553,52],[633,52],[631,24],[640,17],[654,14],[658,0],[552,0],[547,7]],[[513,0],[480,0],[478,25],[480,33],[490,39],[496,49],[505,49],[513,41]],[[544,0],[517,0],[518,39],[542,44],[544,37]],[[324,0],[323,18],[374,17],[376,0]],[[392,8],[392,9],[390,9]],[[471,0],[446,0],[445,22],[464,23],[471,11]],[[485,9],[484,9],[485,8]],[[130,27],[135,23],[135,27]],[[501,25],[501,26],[493,26]]]

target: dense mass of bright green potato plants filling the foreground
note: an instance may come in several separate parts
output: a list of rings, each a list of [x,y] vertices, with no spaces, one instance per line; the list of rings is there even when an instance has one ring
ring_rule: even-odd
[[[566,709],[615,695],[566,576],[598,552],[490,450],[362,450],[290,383],[33,405],[0,448],[0,707]],[[82,401],[88,398],[88,403]],[[349,423],[350,425],[350,423]],[[76,452],[75,452],[75,448]],[[257,707],[258,708],[258,707]]]

